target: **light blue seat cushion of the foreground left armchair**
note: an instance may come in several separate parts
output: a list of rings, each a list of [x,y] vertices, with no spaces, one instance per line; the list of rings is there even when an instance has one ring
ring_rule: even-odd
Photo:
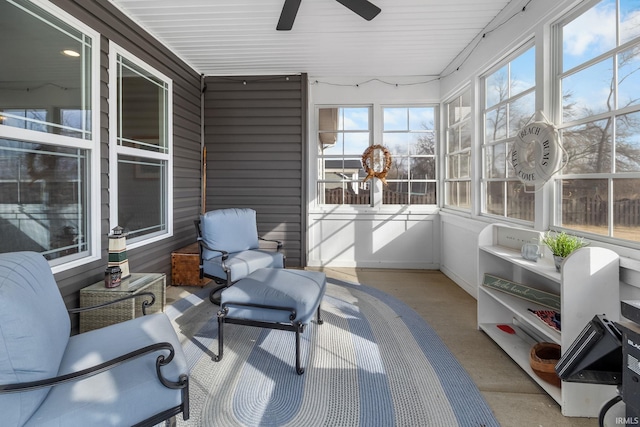
[[[163,367],[162,373],[178,381],[187,372],[186,359],[169,318],[162,313],[74,335],[58,374],[90,368],[158,342],[168,342],[176,351],[175,363]],[[53,387],[25,426],[129,425],[132,419],[145,420],[180,405],[180,393],[158,381],[155,361],[161,354],[168,352],[147,354],[91,378]]]

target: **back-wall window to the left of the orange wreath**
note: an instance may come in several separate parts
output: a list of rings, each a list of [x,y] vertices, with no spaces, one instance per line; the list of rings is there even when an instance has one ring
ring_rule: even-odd
[[[370,205],[362,153],[371,144],[371,107],[318,110],[318,195],[321,204]]]

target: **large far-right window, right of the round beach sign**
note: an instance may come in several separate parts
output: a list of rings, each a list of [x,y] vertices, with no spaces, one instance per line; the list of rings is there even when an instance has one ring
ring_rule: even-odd
[[[569,161],[558,226],[640,241],[640,5],[604,0],[558,26],[556,99]]]

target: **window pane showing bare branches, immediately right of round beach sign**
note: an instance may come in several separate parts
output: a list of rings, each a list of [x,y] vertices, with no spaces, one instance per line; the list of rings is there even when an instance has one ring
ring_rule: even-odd
[[[562,143],[569,162],[563,173],[610,173],[611,128],[608,119],[564,129]]]

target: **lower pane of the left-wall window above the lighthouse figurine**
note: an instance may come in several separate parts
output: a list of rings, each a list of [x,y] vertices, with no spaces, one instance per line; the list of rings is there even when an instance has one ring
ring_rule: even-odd
[[[166,162],[118,157],[118,225],[129,238],[166,231]]]

